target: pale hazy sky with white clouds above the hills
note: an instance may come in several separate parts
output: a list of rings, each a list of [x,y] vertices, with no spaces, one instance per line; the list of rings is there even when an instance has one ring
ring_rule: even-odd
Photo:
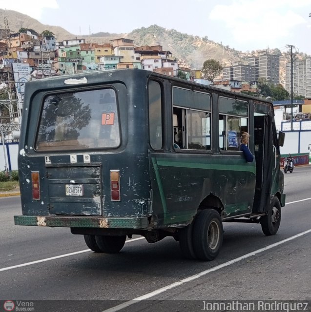
[[[207,36],[241,51],[287,44],[311,55],[311,0],[12,0],[15,10],[74,35],[128,33],[153,24],[199,37]],[[25,4],[26,3],[26,4]],[[134,42],[135,43],[135,42]]]

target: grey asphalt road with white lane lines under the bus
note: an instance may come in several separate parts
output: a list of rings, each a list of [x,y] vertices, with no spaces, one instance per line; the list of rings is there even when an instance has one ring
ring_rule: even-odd
[[[9,299],[33,302],[35,310],[25,311],[123,312],[201,311],[210,300],[311,300],[311,166],[285,175],[285,193],[276,235],[265,236],[258,224],[224,223],[223,247],[211,262],[182,258],[169,237],[149,244],[136,236],[119,254],[95,254],[69,229],[15,226],[20,197],[2,197],[0,311]]]

